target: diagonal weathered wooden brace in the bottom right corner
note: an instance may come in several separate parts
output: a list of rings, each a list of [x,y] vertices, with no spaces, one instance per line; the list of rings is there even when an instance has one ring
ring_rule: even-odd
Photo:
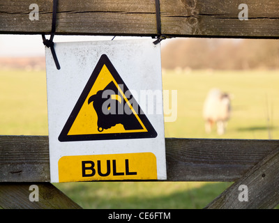
[[[236,183],[209,203],[209,209],[269,209],[279,203],[279,147],[255,165]],[[239,201],[240,185],[248,189],[248,201]]]

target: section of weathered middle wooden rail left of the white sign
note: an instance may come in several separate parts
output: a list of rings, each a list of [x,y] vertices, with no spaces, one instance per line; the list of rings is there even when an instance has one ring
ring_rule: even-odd
[[[48,137],[1,136],[0,182],[50,182]]]

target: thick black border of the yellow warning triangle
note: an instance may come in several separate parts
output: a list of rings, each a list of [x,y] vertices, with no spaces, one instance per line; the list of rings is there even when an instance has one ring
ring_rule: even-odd
[[[90,140],[107,140],[107,139],[142,139],[142,138],[156,138],[157,132],[153,128],[153,125],[151,125],[149,119],[146,117],[144,112],[142,112],[142,109],[139,106],[139,118],[141,119],[142,123],[146,127],[147,132],[121,132],[121,133],[107,133],[107,134],[77,134],[77,135],[68,135],[68,132],[70,131],[70,128],[72,127],[75,118],[77,117],[77,114],[80,112],[80,109],[82,108],[82,105],[84,104],[84,101],[87,98],[87,95],[91,91],[91,88],[93,84],[95,84],[96,79],[100,73],[100,70],[103,68],[103,66],[107,66],[107,69],[110,70],[110,73],[116,80],[117,84],[123,84],[123,90],[126,92],[128,90],[126,84],[121,79],[119,73],[116,71],[114,66],[112,65],[112,62],[107,57],[106,54],[103,54],[100,56],[100,59],[94,68],[91,76],[89,77],[89,80],[84,87],[84,90],[82,91],[80,98],[77,100],[77,103],[75,104],[75,107],[73,108],[73,111],[71,112],[68,120],[66,121],[66,124],[64,125],[61,133],[59,134],[58,140],[63,141],[90,141]]]

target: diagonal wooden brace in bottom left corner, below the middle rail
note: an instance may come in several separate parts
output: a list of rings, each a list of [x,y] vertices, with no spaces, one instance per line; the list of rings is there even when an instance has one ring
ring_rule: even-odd
[[[38,186],[38,201],[30,201],[30,185]],[[4,209],[80,209],[51,183],[0,183],[0,207]]]

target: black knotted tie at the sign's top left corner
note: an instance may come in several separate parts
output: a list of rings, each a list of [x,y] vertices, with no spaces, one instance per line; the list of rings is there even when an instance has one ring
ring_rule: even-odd
[[[43,44],[47,48],[50,48],[50,50],[52,51],[52,57],[54,59],[54,63],[56,65],[57,70],[60,70],[59,61],[57,59],[57,56],[56,56],[56,53],[55,53],[55,50],[54,50],[54,43],[53,43],[53,38],[54,38],[54,34],[55,34],[55,29],[56,29],[57,3],[58,3],[58,0],[53,0],[53,7],[52,7],[52,31],[50,33],[50,39],[47,40],[45,38],[45,34],[42,34],[42,37],[43,37]]]

